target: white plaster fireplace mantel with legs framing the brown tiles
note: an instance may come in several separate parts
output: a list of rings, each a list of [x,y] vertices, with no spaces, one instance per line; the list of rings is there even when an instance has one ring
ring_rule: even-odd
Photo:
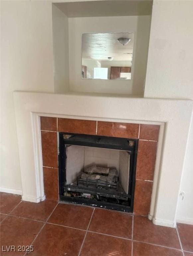
[[[193,102],[14,92],[22,199],[45,199],[40,116],[160,125],[149,218],[175,227]],[[169,207],[168,207],[169,206]]]

